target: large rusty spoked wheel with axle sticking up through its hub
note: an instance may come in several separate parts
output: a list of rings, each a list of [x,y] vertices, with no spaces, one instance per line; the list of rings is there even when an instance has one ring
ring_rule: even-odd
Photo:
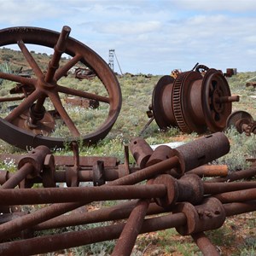
[[[54,126],[52,121],[49,122],[49,128],[44,129],[44,126],[48,126],[48,122],[42,122],[41,120],[48,113],[44,108],[44,102],[47,98],[53,103],[55,111],[61,116],[73,139],[82,139],[85,144],[96,143],[98,140],[106,137],[111,130],[121,108],[122,100],[119,82],[108,67],[108,64],[99,55],[86,45],[69,37],[70,31],[71,29],[68,26],[63,26],[61,33],[28,26],[10,27],[0,30],[0,46],[18,44],[35,74],[32,78],[24,78],[15,74],[0,73],[1,79],[8,79],[22,84],[23,93],[25,94],[25,98],[20,102],[20,105],[14,108],[4,119],[0,119],[0,129],[2,131],[0,137],[6,142],[25,149],[27,146],[36,148],[39,145],[46,145],[49,148],[61,148],[64,142],[70,140],[66,137],[50,137],[49,133]],[[46,73],[38,67],[38,64],[26,48],[26,44],[38,44],[54,49],[54,54],[51,61],[49,61]],[[58,68],[62,53],[66,53],[72,58],[65,66]],[[95,70],[96,75],[102,81],[102,86],[106,88],[108,96],[98,96],[61,85],[59,81],[61,77],[65,76],[67,71],[78,61]],[[29,90],[26,91],[26,88],[29,88]],[[108,116],[106,116],[102,125],[96,128],[96,131],[84,135],[83,132],[80,133],[62,106],[59,93],[69,96],[80,96],[97,102],[105,102],[108,104]],[[4,99],[1,102],[4,102]],[[29,116],[20,125],[20,122],[17,120],[20,119],[23,113]],[[37,124],[40,124],[40,129],[36,129]],[[33,129],[38,132],[33,133]],[[43,130],[40,136],[38,136],[39,130]]]

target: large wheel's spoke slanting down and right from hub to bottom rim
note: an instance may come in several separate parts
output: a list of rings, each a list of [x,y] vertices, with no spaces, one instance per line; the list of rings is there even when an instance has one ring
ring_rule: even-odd
[[[71,131],[73,137],[80,137],[79,130],[73,124],[73,120],[69,117],[65,108],[63,108],[62,103],[61,103],[61,99],[58,96],[58,94],[49,93],[48,96],[49,96],[49,99],[51,100],[51,102],[54,104],[55,109],[57,110],[57,112],[61,115],[61,119],[63,119],[63,121],[67,125],[67,128],[69,129],[69,131]]]

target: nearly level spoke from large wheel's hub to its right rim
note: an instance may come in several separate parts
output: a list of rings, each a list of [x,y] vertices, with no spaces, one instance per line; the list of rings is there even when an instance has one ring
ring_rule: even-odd
[[[93,94],[93,93],[90,93],[90,92],[86,92],[86,91],[82,91],[82,90],[75,90],[75,89],[67,88],[67,87],[64,87],[64,86],[61,86],[61,85],[57,85],[57,90],[59,92],[62,92],[62,93],[68,94],[68,95],[80,96],[80,97],[87,98],[87,99],[90,99],[90,100],[95,100],[95,101],[98,101],[98,102],[105,102],[105,103],[108,103],[108,104],[110,102],[109,97],[99,96],[99,95],[96,95],[96,94]]]

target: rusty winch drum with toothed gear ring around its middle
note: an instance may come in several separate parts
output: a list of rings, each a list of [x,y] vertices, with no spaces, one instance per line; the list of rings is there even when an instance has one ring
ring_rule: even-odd
[[[239,96],[230,95],[223,74],[216,69],[201,73],[180,73],[177,79],[162,77],[154,87],[152,109],[160,129],[178,126],[183,132],[223,131],[231,113],[231,103]]]

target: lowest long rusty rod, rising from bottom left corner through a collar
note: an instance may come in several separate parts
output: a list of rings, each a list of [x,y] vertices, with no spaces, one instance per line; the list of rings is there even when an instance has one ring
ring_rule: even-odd
[[[252,212],[256,210],[256,201],[246,203],[224,204],[226,216]],[[156,218],[145,219],[142,233],[156,230],[166,230],[186,224],[187,220],[182,212],[167,214]],[[0,255],[26,256],[37,253],[49,253],[68,247],[79,247],[85,244],[116,239],[124,229],[125,224],[114,224],[91,230],[68,232],[53,236],[35,237],[20,241],[10,241],[0,244]]]

